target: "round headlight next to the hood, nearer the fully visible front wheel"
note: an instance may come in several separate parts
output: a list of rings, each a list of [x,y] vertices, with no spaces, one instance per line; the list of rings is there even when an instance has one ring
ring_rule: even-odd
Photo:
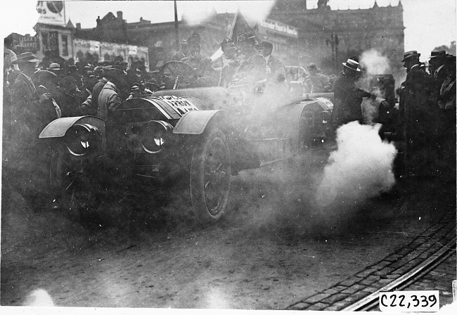
[[[173,126],[162,120],[151,120],[141,126],[139,142],[146,153],[159,153],[169,139]]]

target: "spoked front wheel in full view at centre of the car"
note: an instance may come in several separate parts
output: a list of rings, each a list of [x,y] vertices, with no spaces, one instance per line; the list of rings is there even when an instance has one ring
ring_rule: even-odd
[[[230,151],[220,129],[205,132],[193,150],[191,201],[200,223],[217,221],[226,211],[231,181]]]

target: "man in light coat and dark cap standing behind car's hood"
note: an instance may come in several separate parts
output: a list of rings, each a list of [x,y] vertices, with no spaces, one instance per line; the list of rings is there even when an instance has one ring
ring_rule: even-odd
[[[117,68],[111,68],[106,73],[108,82],[106,82],[98,95],[97,108],[97,116],[103,120],[107,120],[110,113],[114,112],[121,105],[120,89],[118,86],[122,84],[124,75],[125,72]]]

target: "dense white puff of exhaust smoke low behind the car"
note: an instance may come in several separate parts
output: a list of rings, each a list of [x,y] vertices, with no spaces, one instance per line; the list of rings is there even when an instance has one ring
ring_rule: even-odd
[[[395,183],[392,165],[397,149],[378,135],[380,125],[350,122],[337,129],[338,149],[330,154],[316,203],[326,207],[335,198],[363,200],[389,191]]]

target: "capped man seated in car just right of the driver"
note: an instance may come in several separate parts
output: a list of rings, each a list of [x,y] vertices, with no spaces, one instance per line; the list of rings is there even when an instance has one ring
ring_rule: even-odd
[[[238,67],[235,42],[228,37],[221,42],[222,55],[212,62],[212,67],[219,73],[219,86],[228,86]]]

